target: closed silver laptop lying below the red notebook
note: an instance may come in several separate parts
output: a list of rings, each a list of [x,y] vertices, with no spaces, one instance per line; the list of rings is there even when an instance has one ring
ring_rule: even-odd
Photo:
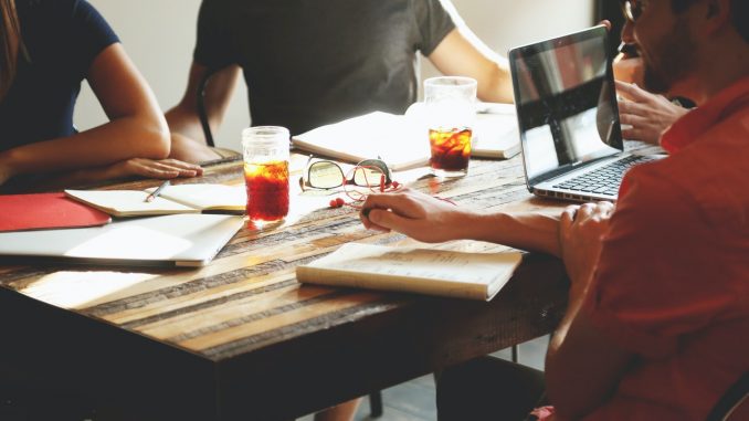
[[[243,217],[170,214],[104,227],[0,233],[0,261],[126,266],[204,266],[244,224]]]

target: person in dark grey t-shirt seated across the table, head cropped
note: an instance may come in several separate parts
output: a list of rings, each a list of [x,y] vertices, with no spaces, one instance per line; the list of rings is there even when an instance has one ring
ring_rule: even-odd
[[[483,101],[513,101],[506,61],[449,0],[203,0],[187,92],[167,113],[172,157],[215,158],[197,112],[208,74],[213,131],[242,72],[252,125],[297,135],[372,110],[404,113],[416,99],[418,53],[444,74],[476,78]]]

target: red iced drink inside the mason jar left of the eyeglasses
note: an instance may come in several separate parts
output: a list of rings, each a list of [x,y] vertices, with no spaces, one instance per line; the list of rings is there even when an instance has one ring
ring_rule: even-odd
[[[288,214],[288,161],[244,164],[247,217],[278,221]]]

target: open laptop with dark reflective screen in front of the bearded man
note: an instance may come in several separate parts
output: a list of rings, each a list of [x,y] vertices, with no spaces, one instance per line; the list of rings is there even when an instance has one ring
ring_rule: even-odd
[[[624,172],[662,156],[624,151],[605,27],[509,51],[528,189],[616,200]]]

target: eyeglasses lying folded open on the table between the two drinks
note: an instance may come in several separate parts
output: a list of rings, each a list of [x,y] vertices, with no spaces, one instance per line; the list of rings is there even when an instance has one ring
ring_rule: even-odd
[[[365,159],[351,168],[348,173],[337,162],[318,159],[312,156],[307,160],[302,188],[335,189],[346,186],[387,187],[392,183],[390,169],[381,159]]]

